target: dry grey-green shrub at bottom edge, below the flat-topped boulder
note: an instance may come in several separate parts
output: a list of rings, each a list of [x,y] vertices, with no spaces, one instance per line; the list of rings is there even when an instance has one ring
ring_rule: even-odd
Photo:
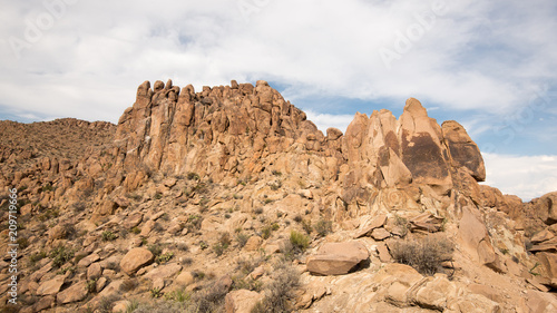
[[[275,277],[265,286],[265,297],[258,302],[251,313],[286,313],[293,312],[294,290],[300,286],[300,274],[287,263],[274,266]]]

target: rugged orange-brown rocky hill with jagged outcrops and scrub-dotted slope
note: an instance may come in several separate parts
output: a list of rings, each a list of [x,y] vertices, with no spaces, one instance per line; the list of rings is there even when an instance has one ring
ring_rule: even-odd
[[[145,81],[0,126],[2,312],[557,312],[557,192],[480,185],[417,99],[323,134],[263,80]]]

